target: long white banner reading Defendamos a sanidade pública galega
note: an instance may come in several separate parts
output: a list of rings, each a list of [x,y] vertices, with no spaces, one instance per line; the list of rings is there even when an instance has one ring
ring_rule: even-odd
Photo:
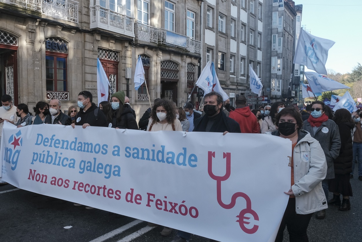
[[[289,198],[291,142],[271,135],[6,122],[2,137],[14,186],[218,241],[274,241]]]

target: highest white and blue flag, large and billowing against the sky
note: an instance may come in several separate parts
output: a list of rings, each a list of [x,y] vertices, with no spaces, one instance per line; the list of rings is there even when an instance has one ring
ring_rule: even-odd
[[[305,65],[308,69],[327,75],[325,62],[328,58],[328,50],[333,45],[332,40],[313,36],[301,28],[293,63]]]

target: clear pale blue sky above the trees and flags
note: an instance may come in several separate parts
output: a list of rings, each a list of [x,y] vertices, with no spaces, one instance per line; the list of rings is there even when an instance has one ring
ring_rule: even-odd
[[[329,49],[325,67],[351,73],[362,64],[361,0],[294,0],[303,5],[302,25],[314,36],[336,42]]]

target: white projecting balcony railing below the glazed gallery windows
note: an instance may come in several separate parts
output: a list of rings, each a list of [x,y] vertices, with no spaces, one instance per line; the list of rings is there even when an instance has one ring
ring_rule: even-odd
[[[102,8],[99,5],[90,7],[90,28],[106,29],[115,33],[135,37],[134,19]]]

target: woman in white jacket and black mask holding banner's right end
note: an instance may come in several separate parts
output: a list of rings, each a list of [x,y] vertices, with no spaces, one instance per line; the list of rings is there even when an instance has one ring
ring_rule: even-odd
[[[307,242],[313,212],[328,207],[321,184],[327,174],[327,162],[319,142],[301,129],[302,116],[294,107],[281,110],[275,124],[278,130],[271,134],[292,141],[291,188],[284,192],[289,201],[275,241],[283,241],[287,226],[290,242]]]

